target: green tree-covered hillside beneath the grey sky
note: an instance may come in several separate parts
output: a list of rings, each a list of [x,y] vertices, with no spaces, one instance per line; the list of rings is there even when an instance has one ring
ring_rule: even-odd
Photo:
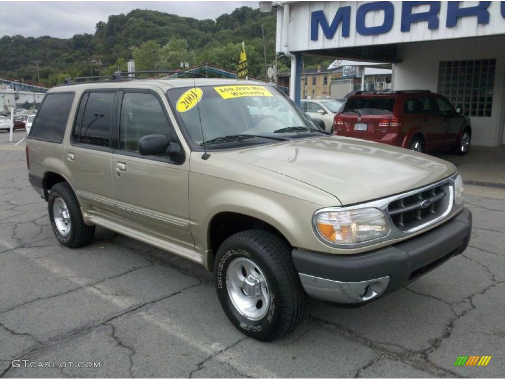
[[[197,20],[158,11],[133,10],[98,21],[94,34],[62,39],[50,36],[0,38],[0,77],[52,86],[72,76],[126,71],[135,59],[137,71],[174,70],[180,62],[212,63],[236,70],[245,42],[250,75],[263,77],[265,30],[267,61],[274,62],[275,14],[237,8],[216,20]],[[284,68],[286,68],[284,66]]]

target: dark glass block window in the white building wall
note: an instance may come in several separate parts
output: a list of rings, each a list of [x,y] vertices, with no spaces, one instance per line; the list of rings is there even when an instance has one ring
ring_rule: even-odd
[[[437,92],[467,116],[491,117],[495,67],[495,59],[440,62]]]

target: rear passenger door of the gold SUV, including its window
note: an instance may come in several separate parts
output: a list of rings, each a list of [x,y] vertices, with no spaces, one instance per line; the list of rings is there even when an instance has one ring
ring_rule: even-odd
[[[70,145],[65,148],[65,173],[84,212],[110,215],[112,189],[112,124],[117,91],[84,92]]]

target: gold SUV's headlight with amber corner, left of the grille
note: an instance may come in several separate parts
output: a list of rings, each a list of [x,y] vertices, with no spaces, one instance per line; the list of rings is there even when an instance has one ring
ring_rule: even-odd
[[[356,244],[389,233],[386,216],[377,208],[320,212],[314,225],[324,240],[334,244]]]

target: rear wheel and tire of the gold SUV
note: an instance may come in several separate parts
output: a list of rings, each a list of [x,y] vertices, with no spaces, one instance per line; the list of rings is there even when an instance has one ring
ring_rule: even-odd
[[[62,245],[79,248],[93,241],[95,227],[84,223],[79,202],[67,182],[51,187],[47,207],[51,227]]]

